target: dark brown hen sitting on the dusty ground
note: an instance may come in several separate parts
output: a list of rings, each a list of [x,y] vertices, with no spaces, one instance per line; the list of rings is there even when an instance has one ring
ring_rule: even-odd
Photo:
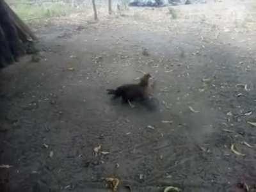
[[[123,102],[128,102],[131,105],[131,101],[134,100],[147,100],[150,96],[150,88],[148,86],[148,79],[150,79],[150,74],[145,74],[140,79],[138,84],[123,84],[118,86],[115,90],[108,89],[109,95],[114,95],[113,99],[122,97]]]

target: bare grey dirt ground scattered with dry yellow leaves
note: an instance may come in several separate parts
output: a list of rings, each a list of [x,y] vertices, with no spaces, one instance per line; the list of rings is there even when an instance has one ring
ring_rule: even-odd
[[[32,25],[41,60],[26,56],[0,74],[0,164],[12,166],[0,168],[2,182],[26,192],[111,191],[106,177],[120,179],[119,191],[256,190],[252,3]],[[156,110],[106,94],[142,72],[156,78]]]

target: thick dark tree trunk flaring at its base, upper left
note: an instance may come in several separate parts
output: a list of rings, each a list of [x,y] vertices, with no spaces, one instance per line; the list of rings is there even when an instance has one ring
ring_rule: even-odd
[[[18,61],[27,52],[27,46],[33,46],[36,36],[28,26],[0,0],[0,68]]]

